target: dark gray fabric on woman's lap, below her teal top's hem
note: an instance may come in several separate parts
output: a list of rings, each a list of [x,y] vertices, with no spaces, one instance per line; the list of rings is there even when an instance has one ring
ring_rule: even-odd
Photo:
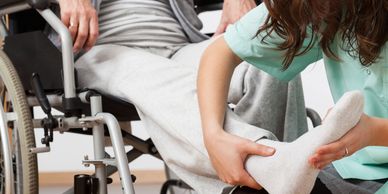
[[[343,179],[333,165],[325,167],[319,173],[318,178],[333,194],[373,194],[387,181]]]

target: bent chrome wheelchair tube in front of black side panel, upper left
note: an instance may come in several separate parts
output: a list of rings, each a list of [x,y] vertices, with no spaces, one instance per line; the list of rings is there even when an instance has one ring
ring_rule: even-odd
[[[65,98],[75,98],[73,40],[62,21],[50,10],[37,10],[47,23],[59,34],[62,42],[63,86]]]

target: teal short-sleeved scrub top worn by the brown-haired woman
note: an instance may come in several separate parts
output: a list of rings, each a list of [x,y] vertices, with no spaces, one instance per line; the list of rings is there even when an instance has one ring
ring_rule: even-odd
[[[351,56],[342,49],[344,45],[341,45],[341,35],[337,34],[331,48],[340,60],[325,56],[318,43],[314,43],[311,50],[296,56],[290,67],[283,71],[282,62],[285,52],[277,48],[283,39],[273,32],[262,41],[266,33],[257,34],[267,15],[267,8],[261,4],[242,17],[240,21],[228,27],[224,39],[237,56],[285,81],[291,80],[308,65],[323,58],[335,102],[347,91],[360,90],[365,97],[364,112],[370,116],[388,118],[387,44],[382,48],[380,58],[376,63],[365,67],[361,65],[358,57]],[[307,47],[309,41],[305,40],[303,47]],[[388,147],[366,147],[333,164],[343,178],[362,180],[388,178]]]

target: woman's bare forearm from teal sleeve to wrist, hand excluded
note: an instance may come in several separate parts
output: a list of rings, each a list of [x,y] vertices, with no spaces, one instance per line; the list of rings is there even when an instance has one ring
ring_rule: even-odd
[[[240,62],[223,37],[214,41],[202,56],[197,87],[205,136],[222,130],[230,80]]]

